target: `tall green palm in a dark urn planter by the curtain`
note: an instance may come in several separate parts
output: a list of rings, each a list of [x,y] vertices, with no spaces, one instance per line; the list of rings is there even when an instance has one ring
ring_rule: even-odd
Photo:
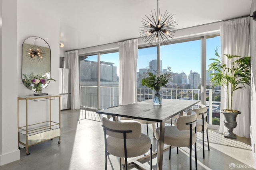
[[[228,132],[224,137],[236,139],[233,129],[237,126],[236,117],[241,111],[233,109],[233,92],[238,89],[246,88],[245,84],[250,85],[250,57],[241,57],[238,55],[223,54],[230,64],[224,63],[218,55],[218,48],[215,49],[217,59],[210,59],[214,62],[209,64],[209,70],[213,73],[211,82],[213,85],[224,87],[227,93],[227,108],[220,111],[224,115],[224,125]]]

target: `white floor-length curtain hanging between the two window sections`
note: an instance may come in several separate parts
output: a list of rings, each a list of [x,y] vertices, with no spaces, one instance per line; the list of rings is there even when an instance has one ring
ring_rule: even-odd
[[[138,39],[119,44],[119,104],[137,102]]]

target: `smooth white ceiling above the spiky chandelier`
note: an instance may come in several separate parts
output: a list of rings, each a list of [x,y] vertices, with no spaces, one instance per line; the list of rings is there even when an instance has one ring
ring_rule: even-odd
[[[248,16],[252,0],[159,0],[160,14],[174,14],[178,29]],[[38,14],[60,21],[62,51],[140,37],[142,18],[157,10],[157,0],[18,0]],[[47,10],[45,10],[47,9]]]

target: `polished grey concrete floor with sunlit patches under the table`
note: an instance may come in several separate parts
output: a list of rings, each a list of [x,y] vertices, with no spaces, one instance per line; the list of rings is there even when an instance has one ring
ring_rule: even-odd
[[[20,160],[0,166],[0,170],[104,170],[104,135],[98,114],[93,111],[63,110],[61,111],[61,144],[59,138],[20,149]],[[152,126],[150,138],[153,150],[156,150],[156,139],[153,139]],[[146,125],[142,125],[146,133]],[[202,155],[202,133],[198,133],[197,154],[198,170],[230,170],[233,163],[235,169],[254,169],[256,163],[252,156],[250,139],[238,137],[237,140],[225,139],[222,134],[209,130],[210,151]],[[194,147],[193,147],[194,151]],[[189,149],[172,149],[172,158],[168,158],[169,150],[164,152],[163,170],[189,169]],[[195,169],[194,152],[192,169]],[[153,159],[153,169],[156,170],[156,160]],[[111,163],[110,163],[111,161]],[[119,169],[119,158],[110,155],[108,170]],[[144,161],[149,167],[148,160]],[[250,168],[252,167],[252,168]],[[134,165],[129,167],[136,170]],[[124,169],[124,168],[123,168]]]

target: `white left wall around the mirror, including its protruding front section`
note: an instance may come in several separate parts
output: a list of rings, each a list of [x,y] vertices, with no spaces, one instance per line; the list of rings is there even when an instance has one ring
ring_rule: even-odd
[[[23,41],[28,37],[37,36],[44,39],[50,46],[51,78],[56,79],[56,82],[50,81],[50,84],[43,89],[43,92],[45,93],[59,94],[60,57],[60,21],[53,19],[52,16],[42,16],[41,13],[36,11],[36,8],[29,8],[29,10],[28,8],[19,8],[18,0],[4,0],[3,2],[2,13],[4,13],[5,10],[7,14],[2,15],[3,23],[4,21],[8,21],[6,23],[12,24],[12,27],[9,27],[8,30],[4,30],[4,27],[2,28],[2,48],[6,50],[2,51],[1,62],[2,89],[0,91],[0,102],[3,108],[1,110],[2,119],[0,127],[2,129],[0,138],[0,165],[17,160],[17,157],[18,159],[20,158],[17,137],[17,97],[26,96],[32,93],[32,90],[29,90],[22,84],[21,79]],[[16,10],[16,6],[18,10]],[[10,28],[15,30],[12,31]],[[8,36],[7,33],[9,34],[9,37],[6,37]],[[13,37],[15,38],[14,35],[16,35],[16,39],[12,39]],[[15,48],[17,50],[15,50]],[[58,100],[54,100],[52,102],[52,114],[54,120],[58,120],[58,106]],[[39,123],[38,120],[44,121],[44,119],[48,119],[49,111],[44,111],[44,108],[49,108],[48,102],[30,101],[28,106],[28,111],[31,113],[28,116],[29,123]],[[24,121],[25,117],[24,110],[25,102],[22,101],[20,102],[19,117],[20,123],[23,125],[24,122],[22,121]],[[33,114],[31,112],[32,110]],[[14,151],[15,154],[13,156],[12,153]]]

